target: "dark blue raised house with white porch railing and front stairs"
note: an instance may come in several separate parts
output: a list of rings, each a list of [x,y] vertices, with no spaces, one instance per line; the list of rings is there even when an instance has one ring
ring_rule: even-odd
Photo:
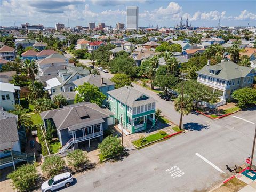
[[[68,105],[64,108],[44,111],[40,113],[44,122],[55,126],[62,148],[59,153],[65,152],[69,147],[75,149],[97,139],[102,141],[103,131],[108,125],[114,124],[114,114],[108,109],[102,109],[95,103],[83,102]]]

